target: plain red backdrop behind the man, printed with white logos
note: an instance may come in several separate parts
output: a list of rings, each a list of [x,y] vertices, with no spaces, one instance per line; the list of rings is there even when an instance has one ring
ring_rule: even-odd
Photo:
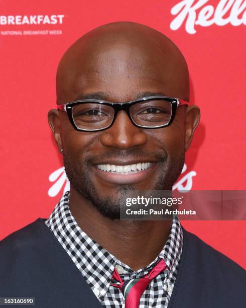
[[[201,122],[179,179],[183,186],[245,190],[245,8],[238,0],[0,1],[0,238],[48,217],[63,193],[62,170],[50,177],[63,166],[47,122],[56,67],[77,38],[114,21],[159,30],[187,59]],[[183,225],[246,267],[245,221]]]

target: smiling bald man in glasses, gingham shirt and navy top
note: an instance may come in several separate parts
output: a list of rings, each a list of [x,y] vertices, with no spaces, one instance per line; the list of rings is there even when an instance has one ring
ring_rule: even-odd
[[[172,190],[199,123],[188,101],[183,55],[149,27],[108,24],[67,50],[48,119],[70,193],[2,241],[1,296],[38,307],[245,306],[243,270],[177,217],[119,219],[122,194]]]

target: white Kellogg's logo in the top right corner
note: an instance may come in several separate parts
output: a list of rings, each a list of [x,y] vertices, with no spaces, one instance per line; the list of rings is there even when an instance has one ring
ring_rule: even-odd
[[[196,33],[196,26],[246,25],[246,0],[220,0],[217,7],[208,3],[209,0],[183,0],[176,4],[171,14],[177,16],[170,28],[178,30],[185,20],[185,30],[189,34]]]

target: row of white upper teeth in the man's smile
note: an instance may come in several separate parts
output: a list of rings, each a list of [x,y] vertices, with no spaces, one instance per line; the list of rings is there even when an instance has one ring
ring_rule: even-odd
[[[126,166],[116,166],[116,165],[106,164],[106,165],[97,165],[97,168],[105,172],[128,174],[145,170],[149,168],[151,165],[152,165],[151,163],[138,163]]]

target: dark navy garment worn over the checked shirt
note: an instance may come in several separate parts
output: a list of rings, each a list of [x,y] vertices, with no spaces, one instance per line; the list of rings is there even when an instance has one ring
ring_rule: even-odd
[[[245,271],[183,232],[183,252],[168,307],[245,308]],[[35,297],[38,308],[101,307],[42,218],[0,242],[0,297],[7,296]]]

